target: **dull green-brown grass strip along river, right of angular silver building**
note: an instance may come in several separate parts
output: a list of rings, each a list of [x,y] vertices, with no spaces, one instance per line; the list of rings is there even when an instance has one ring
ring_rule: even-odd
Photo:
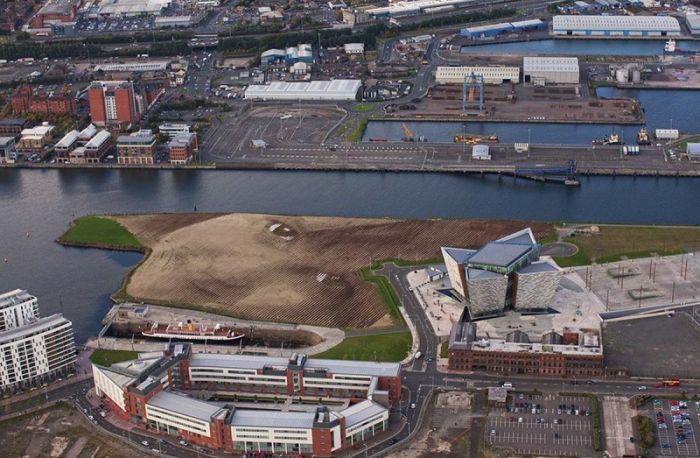
[[[700,248],[700,228],[600,226],[595,235],[566,237],[579,251],[568,258],[555,258],[562,267],[599,264],[623,258],[645,258],[685,253]]]

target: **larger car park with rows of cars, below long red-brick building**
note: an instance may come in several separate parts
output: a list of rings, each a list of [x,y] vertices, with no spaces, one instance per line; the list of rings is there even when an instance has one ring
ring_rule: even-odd
[[[489,418],[490,446],[523,454],[595,456],[587,396],[513,393],[511,398]]]

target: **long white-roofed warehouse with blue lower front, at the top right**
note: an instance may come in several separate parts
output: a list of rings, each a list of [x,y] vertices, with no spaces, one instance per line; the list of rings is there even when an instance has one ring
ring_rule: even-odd
[[[592,37],[673,37],[681,34],[671,16],[559,15],[552,20],[552,34]]]

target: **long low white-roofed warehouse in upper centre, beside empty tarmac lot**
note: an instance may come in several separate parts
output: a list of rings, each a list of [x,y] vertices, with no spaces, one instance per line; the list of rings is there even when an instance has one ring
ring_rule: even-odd
[[[313,81],[309,83],[273,82],[252,84],[245,91],[250,100],[357,100],[360,80]]]

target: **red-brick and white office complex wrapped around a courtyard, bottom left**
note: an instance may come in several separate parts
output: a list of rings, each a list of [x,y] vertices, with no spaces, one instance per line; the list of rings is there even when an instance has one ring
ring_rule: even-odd
[[[303,354],[193,354],[189,344],[93,364],[105,405],[141,428],[229,453],[300,456],[331,456],[386,430],[400,371],[398,363]],[[252,409],[246,400],[267,402]]]

